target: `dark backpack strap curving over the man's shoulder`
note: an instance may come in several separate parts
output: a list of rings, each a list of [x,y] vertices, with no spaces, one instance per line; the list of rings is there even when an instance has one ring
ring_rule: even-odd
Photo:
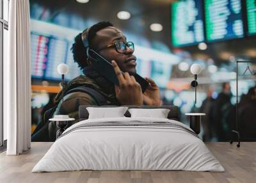
[[[100,94],[96,90],[93,90],[92,88],[89,88],[88,86],[78,86],[76,88],[72,88],[71,90],[68,90],[68,92],[65,93],[65,96],[74,92],[87,93],[88,95],[93,97],[93,99],[95,99],[98,106],[104,106],[108,104],[107,100],[105,99],[105,97],[102,96],[102,94]]]

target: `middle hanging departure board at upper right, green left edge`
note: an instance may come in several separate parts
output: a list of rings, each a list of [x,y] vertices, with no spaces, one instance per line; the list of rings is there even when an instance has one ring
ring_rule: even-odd
[[[241,0],[205,0],[205,29],[208,41],[243,37]]]

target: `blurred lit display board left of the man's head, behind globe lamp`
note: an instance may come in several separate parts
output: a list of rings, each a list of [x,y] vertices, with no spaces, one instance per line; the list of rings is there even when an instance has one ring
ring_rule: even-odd
[[[57,67],[66,63],[69,71],[65,79],[71,80],[81,74],[70,51],[72,43],[63,38],[31,33],[31,77],[36,79],[61,80]]]

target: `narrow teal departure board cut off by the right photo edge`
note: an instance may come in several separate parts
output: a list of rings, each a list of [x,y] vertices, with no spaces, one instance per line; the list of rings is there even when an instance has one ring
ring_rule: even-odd
[[[248,35],[256,34],[256,0],[246,0]]]

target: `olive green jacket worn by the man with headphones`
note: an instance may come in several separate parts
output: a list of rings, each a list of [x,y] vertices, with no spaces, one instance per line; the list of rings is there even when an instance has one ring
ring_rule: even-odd
[[[97,106],[97,102],[88,93],[74,92],[65,95],[65,93],[78,86],[90,87],[93,90],[99,92],[107,101],[106,105],[116,105],[119,106],[120,103],[115,97],[115,86],[101,77],[97,72],[89,72],[86,76],[78,76],[72,81],[68,82],[63,88],[64,96],[62,102],[62,90],[56,95],[55,102],[58,104],[54,115],[68,115],[70,118],[75,118],[76,120],[70,125],[77,123],[79,121],[78,109],[79,106]],[[49,139],[50,141],[55,141],[56,139],[56,122],[50,122],[48,125]]]

